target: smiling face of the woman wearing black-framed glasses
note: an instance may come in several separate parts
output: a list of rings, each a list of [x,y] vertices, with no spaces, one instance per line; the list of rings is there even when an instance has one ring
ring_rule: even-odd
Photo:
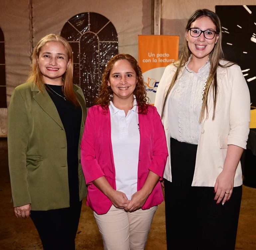
[[[190,26],[190,28],[198,28],[202,31],[212,30],[216,31],[216,26],[209,17],[199,17]],[[186,39],[188,46],[192,53],[192,57],[202,60],[204,63],[207,61],[210,52],[213,50],[215,43],[218,41],[218,34],[213,39],[206,39],[203,33],[199,37],[192,37],[190,31],[186,32]]]

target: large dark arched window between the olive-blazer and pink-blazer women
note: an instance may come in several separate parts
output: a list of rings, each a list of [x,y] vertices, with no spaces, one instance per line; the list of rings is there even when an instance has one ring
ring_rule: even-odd
[[[106,62],[118,53],[116,29],[106,17],[85,12],[70,18],[61,36],[72,47],[74,81],[83,90],[86,106],[91,107],[98,96]]]

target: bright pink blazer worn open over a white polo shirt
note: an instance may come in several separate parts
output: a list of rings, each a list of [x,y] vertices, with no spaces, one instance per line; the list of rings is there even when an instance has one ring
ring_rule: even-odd
[[[164,127],[155,107],[148,106],[146,115],[139,114],[139,129],[137,190],[144,185],[149,170],[163,178],[168,156]],[[88,110],[81,141],[81,164],[88,185],[87,206],[97,214],[107,213],[112,202],[92,183],[105,176],[112,188],[116,189],[110,113],[108,111],[106,114],[98,105]],[[161,184],[158,182],[142,209],[159,205],[163,200]]]

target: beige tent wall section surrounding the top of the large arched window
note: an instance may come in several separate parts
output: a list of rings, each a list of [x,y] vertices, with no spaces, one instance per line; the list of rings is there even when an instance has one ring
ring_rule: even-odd
[[[138,57],[137,35],[141,34],[143,24],[142,1],[136,0],[128,2],[119,0],[37,1],[33,4],[35,41],[49,33],[59,34],[69,18],[82,12],[99,13],[109,19],[118,34],[119,52]]]

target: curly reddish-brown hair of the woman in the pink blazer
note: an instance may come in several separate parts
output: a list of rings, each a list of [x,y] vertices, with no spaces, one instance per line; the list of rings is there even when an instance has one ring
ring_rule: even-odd
[[[138,113],[147,114],[148,112],[148,98],[147,92],[144,84],[144,79],[142,76],[141,68],[138,65],[137,60],[129,54],[118,54],[113,56],[107,63],[106,68],[102,74],[102,84],[100,86],[99,96],[95,100],[95,104],[100,105],[102,109],[108,111],[109,102],[112,101],[113,91],[110,86],[108,86],[110,72],[118,60],[127,60],[132,68],[134,69],[137,77],[137,83],[133,94],[136,96],[136,101],[138,104]]]

